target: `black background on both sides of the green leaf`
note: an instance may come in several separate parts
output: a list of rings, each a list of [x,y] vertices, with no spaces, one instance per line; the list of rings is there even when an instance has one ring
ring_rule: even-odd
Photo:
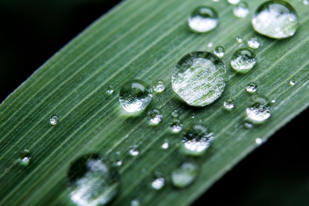
[[[0,102],[120,0],[0,0]],[[309,206],[308,109],[193,206]]]

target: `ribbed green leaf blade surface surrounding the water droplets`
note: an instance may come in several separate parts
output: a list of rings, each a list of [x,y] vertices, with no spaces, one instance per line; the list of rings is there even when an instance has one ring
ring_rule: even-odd
[[[242,19],[232,14],[226,1],[208,2],[219,14],[218,28],[207,34],[189,31],[187,18],[199,5],[195,0],[125,0],[95,21],[42,65],[0,105],[0,205],[74,205],[66,189],[72,161],[88,153],[101,153],[119,166],[121,189],[111,205],[129,205],[136,198],[142,205],[187,206],[278,129],[308,107],[308,7],[289,1],[299,14],[300,28],[288,39],[272,40],[255,33],[250,18],[260,1],[250,1],[250,14]],[[236,41],[242,36],[244,43]],[[236,74],[229,61],[233,51],[257,37],[258,64],[247,74]],[[212,42],[213,45],[209,46]],[[225,48],[228,82],[214,103],[195,108],[182,102],[171,89],[177,61],[197,50]],[[153,85],[165,82],[151,104],[136,116],[120,106],[118,92],[123,82],[142,79]],[[294,81],[292,86],[290,81]],[[244,126],[245,108],[258,93],[275,100],[271,117],[264,124]],[[109,85],[115,91],[107,93]],[[224,101],[235,101],[226,111]],[[163,114],[160,124],[149,124],[148,111]],[[198,157],[183,154],[181,133],[173,133],[173,109],[180,111],[184,129],[194,122],[207,125],[214,140]],[[51,126],[49,119],[60,120]],[[168,149],[162,149],[164,142]],[[138,146],[139,155],[129,154]],[[20,152],[32,153],[28,165],[18,162]],[[184,162],[199,166],[195,181],[186,188],[171,184],[170,174]],[[154,190],[156,173],[165,185]]]

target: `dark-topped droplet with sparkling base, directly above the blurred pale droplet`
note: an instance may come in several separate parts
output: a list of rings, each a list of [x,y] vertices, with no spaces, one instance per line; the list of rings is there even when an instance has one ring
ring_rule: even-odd
[[[187,155],[202,155],[213,140],[213,135],[201,124],[190,125],[183,133],[181,150]]]

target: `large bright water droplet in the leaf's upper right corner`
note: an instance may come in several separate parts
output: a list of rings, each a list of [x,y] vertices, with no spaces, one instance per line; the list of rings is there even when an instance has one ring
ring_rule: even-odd
[[[251,23],[256,32],[274,39],[291,37],[299,27],[296,10],[283,0],[262,3],[253,14]]]

